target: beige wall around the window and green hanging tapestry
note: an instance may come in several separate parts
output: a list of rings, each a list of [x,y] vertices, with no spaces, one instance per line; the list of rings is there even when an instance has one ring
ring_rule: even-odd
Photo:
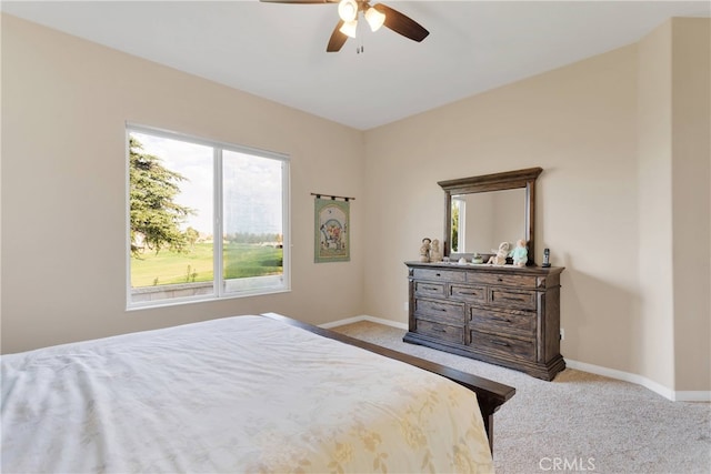
[[[124,311],[126,121],[291,155],[292,292]],[[233,314],[362,314],[362,132],[3,16],[2,138],[3,352]],[[357,198],[351,262],[313,263],[310,192]]]

